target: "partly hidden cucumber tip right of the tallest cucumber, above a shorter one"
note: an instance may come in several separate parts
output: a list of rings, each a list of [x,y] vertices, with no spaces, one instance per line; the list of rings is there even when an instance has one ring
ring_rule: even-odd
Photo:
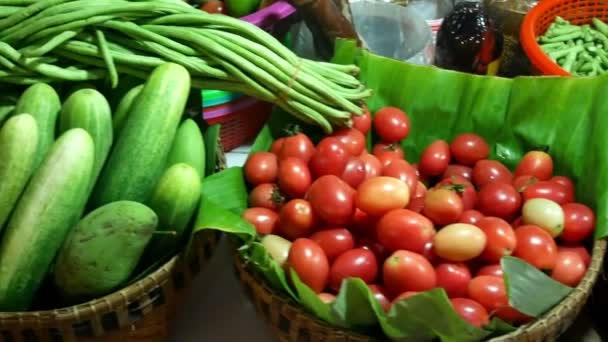
[[[198,125],[186,119],[177,129],[167,166],[185,163],[192,166],[201,176],[205,176],[205,140]]]

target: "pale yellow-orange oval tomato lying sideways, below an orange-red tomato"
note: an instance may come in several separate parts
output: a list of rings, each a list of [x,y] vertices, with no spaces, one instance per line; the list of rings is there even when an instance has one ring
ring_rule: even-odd
[[[476,226],[454,223],[443,227],[435,237],[435,253],[443,259],[462,262],[479,256],[486,247],[486,236]]]

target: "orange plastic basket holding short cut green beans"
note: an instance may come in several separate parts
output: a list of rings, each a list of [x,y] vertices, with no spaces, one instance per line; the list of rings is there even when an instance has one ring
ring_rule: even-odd
[[[530,10],[521,26],[520,41],[532,63],[534,74],[571,75],[554,63],[536,41],[557,16],[576,25],[589,24],[593,18],[608,21],[608,0],[543,0]]]

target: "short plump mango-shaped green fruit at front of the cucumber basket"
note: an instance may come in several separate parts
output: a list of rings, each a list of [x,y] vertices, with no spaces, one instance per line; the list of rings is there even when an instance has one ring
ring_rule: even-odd
[[[63,244],[54,269],[55,286],[70,302],[110,293],[129,279],[157,225],[154,211],[137,202],[95,209]]]

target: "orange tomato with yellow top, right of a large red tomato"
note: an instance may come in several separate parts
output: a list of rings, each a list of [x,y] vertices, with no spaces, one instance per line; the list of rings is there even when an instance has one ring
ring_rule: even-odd
[[[409,200],[410,191],[405,183],[396,178],[382,176],[365,180],[359,185],[355,196],[357,208],[372,216],[381,216],[393,209],[404,208]]]

